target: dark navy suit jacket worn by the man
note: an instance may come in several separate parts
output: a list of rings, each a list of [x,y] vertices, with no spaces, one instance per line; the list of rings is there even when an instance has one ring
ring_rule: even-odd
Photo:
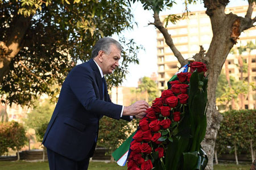
[[[92,157],[100,118],[118,120],[122,111],[121,105],[111,102],[107,88],[105,101],[102,94],[100,70],[93,59],[75,66],[63,83],[43,145],[76,161]]]

